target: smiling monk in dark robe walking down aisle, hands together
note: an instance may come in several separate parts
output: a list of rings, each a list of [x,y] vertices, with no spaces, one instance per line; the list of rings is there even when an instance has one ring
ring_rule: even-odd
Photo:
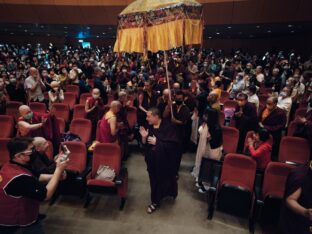
[[[149,109],[146,119],[149,127],[140,127],[140,134],[151,186],[151,205],[147,213],[151,214],[163,198],[176,198],[178,195],[176,148],[179,141],[172,124],[161,119],[157,108]]]

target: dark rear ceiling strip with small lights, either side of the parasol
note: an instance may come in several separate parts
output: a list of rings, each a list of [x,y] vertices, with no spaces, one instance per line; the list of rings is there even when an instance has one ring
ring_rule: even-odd
[[[267,38],[305,35],[312,32],[312,21],[275,24],[206,25],[205,39]],[[115,39],[116,26],[76,24],[0,23],[0,35],[51,36],[76,39]]]

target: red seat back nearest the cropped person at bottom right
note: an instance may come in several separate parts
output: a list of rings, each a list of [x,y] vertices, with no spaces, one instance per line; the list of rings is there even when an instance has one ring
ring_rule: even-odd
[[[264,199],[267,196],[283,198],[287,176],[293,168],[295,166],[280,162],[270,162],[267,165],[262,186]]]

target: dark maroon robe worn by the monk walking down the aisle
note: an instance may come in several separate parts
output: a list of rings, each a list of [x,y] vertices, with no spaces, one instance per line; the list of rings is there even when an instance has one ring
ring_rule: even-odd
[[[170,122],[162,120],[158,129],[148,127],[149,136],[156,137],[156,145],[144,145],[145,162],[150,178],[151,202],[159,204],[165,197],[176,198],[178,184],[176,180],[177,138],[175,128]]]

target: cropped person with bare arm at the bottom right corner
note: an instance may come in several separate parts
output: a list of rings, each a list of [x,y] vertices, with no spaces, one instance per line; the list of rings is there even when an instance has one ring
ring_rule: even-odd
[[[295,168],[287,178],[281,209],[279,233],[311,233],[312,161]]]

